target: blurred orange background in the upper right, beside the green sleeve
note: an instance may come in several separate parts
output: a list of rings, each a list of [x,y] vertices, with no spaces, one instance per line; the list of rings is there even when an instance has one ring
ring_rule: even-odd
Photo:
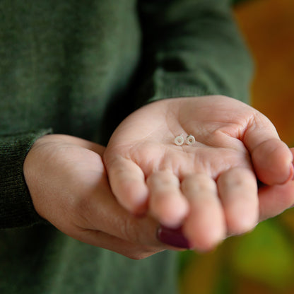
[[[252,0],[235,8],[255,61],[252,105],[294,143],[294,1]]]

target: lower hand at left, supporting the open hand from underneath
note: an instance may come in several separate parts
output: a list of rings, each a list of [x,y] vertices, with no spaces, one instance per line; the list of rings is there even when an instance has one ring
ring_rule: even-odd
[[[98,144],[65,135],[38,139],[24,174],[37,213],[61,232],[90,245],[141,259],[166,248],[158,223],[136,218],[110,191]]]

